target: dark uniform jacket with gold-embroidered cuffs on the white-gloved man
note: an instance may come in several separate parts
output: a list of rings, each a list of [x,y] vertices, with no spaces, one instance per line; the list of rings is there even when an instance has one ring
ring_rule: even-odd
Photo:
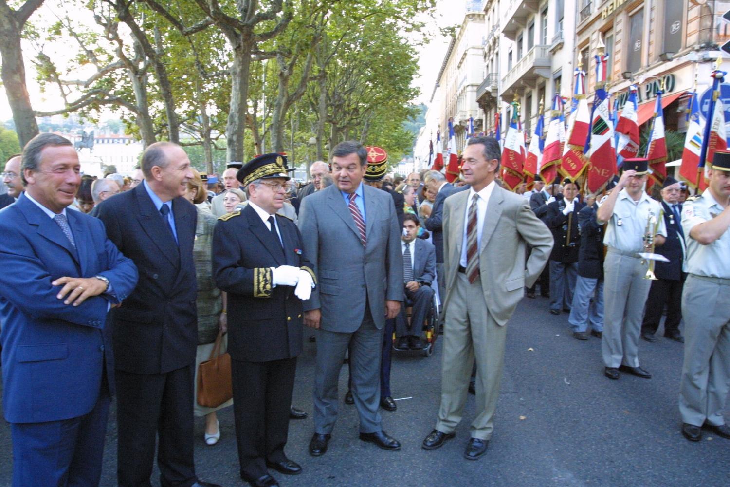
[[[228,353],[264,362],[301,353],[302,307],[294,287],[272,283],[272,267],[300,267],[314,278],[293,221],[276,215],[284,243],[250,205],[218,218],[213,232],[213,275],[228,293]]]

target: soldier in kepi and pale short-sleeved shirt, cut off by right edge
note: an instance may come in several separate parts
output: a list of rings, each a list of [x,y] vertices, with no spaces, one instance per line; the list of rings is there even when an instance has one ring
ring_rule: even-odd
[[[699,441],[705,427],[730,439],[723,417],[730,386],[730,152],[715,153],[710,185],[684,203],[682,226],[688,272],[682,294],[682,434]]]

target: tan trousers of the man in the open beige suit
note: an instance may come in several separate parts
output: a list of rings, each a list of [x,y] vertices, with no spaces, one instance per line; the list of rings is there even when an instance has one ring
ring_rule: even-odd
[[[459,272],[451,291],[444,327],[444,356],[441,371],[441,407],[436,429],[450,433],[464,413],[469,377],[476,358],[476,414],[471,437],[489,440],[494,429],[494,411],[504,366],[507,326],[499,326],[487,310],[479,279],[469,284]]]

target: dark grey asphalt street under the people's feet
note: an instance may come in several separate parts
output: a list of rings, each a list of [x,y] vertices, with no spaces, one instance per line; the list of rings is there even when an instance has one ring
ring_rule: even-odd
[[[294,404],[310,413],[292,421],[287,453],[304,467],[297,477],[276,475],[283,486],[718,486],[730,485],[730,440],[704,433],[691,443],[680,433],[677,391],[683,345],[660,338],[640,342],[642,367],[652,380],[602,374],[600,340],[574,340],[567,315],[548,313],[547,299],[523,299],[508,325],[507,356],[496,429],[485,458],[466,461],[473,396],[455,440],[420,448],[439,402],[441,348],[430,358],[393,358],[394,413],[383,412],[385,431],[403,444],[380,450],[357,437],[354,406],[342,403],[330,448],[312,458],[314,344],[299,361]],[[660,328],[658,336],[661,335]],[[440,345],[440,342],[439,342]],[[345,394],[347,368],[340,377]],[[729,403],[730,404],[730,403]],[[730,423],[730,410],[726,410]],[[220,415],[223,437],[209,447],[196,423],[196,467],[204,480],[242,485],[231,409]],[[116,424],[107,435],[102,486],[115,485]],[[0,486],[9,485],[12,456],[7,423],[0,427]],[[275,474],[276,472],[274,472]],[[153,485],[158,485],[155,471]]]

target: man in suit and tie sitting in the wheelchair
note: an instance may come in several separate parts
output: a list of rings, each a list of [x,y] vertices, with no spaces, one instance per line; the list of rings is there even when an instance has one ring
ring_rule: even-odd
[[[423,321],[434,302],[431,283],[436,278],[436,248],[426,240],[416,238],[419,229],[418,217],[407,213],[401,234],[405,302],[396,317],[396,348],[401,349],[423,348]],[[410,323],[406,318],[407,307],[412,307]]]

